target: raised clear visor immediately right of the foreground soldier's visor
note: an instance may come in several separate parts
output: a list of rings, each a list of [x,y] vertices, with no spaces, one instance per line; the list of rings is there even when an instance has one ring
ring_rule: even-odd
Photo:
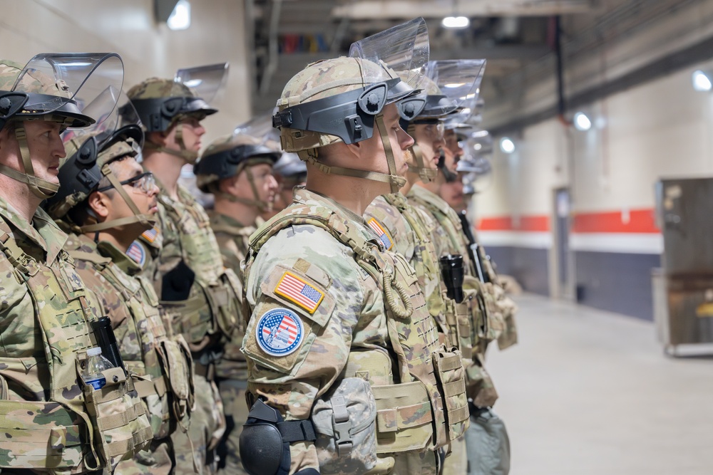
[[[460,113],[465,117],[471,115],[481,92],[485,68],[484,59],[429,61],[426,76],[438,85],[442,97],[438,98],[437,107],[424,110],[424,113],[445,115],[461,109]]]

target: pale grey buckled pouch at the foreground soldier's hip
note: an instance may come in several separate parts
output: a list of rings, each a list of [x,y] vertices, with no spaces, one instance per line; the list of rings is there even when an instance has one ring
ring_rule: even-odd
[[[376,402],[369,383],[347,377],[314,402],[321,474],[362,474],[376,465]]]

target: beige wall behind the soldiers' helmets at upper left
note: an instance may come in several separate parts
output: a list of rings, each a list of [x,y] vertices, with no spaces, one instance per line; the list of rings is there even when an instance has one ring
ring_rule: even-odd
[[[171,31],[154,20],[153,0],[0,0],[3,55],[24,63],[36,53],[113,51],[124,62],[124,90],[178,68],[228,61],[227,88],[207,118],[204,146],[250,119],[250,61],[243,0],[193,0],[191,26]]]

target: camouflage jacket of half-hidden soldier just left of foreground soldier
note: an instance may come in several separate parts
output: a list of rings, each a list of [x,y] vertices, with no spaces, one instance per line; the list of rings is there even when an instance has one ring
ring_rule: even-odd
[[[255,226],[243,226],[236,219],[214,211],[208,212],[208,216],[210,216],[210,227],[215,233],[215,240],[220,248],[223,265],[240,275],[240,263],[247,256],[250,234],[255,232]],[[240,351],[242,338],[245,336],[245,324],[242,316],[242,283],[239,295],[241,301],[237,313],[238,330],[225,343],[225,353],[217,363],[215,374],[220,377],[246,381],[247,362]]]

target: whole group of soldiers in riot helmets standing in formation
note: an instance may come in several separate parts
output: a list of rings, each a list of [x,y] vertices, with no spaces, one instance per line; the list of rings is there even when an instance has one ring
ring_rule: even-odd
[[[484,61],[428,45],[310,64],[200,161],[227,64],[116,105],[116,54],[0,61],[0,471],[507,474],[515,307],[439,197]]]

